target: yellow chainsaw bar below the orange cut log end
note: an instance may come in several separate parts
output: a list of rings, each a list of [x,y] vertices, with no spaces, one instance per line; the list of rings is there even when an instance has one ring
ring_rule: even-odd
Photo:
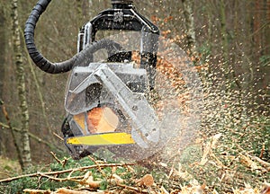
[[[106,133],[82,137],[68,137],[68,145],[126,145],[135,144],[130,134]]]

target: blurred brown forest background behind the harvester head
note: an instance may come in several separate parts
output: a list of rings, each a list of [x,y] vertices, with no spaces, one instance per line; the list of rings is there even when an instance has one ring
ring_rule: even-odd
[[[31,162],[49,163],[51,150],[66,152],[55,134],[61,136],[65,118],[67,74],[41,72],[26,53],[23,28],[34,4],[36,0],[21,0],[17,6],[28,133]],[[201,137],[221,133],[230,150],[223,147],[220,153],[238,155],[240,145],[269,163],[270,0],[135,0],[134,4],[166,39],[193,58],[204,88]],[[50,61],[72,57],[79,28],[109,7],[109,0],[52,1],[35,31],[37,48]],[[25,125],[15,74],[13,23],[13,1],[0,0],[0,100],[6,110],[0,112],[0,155],[16,159],[14,137],[22,147],[20,131]]]

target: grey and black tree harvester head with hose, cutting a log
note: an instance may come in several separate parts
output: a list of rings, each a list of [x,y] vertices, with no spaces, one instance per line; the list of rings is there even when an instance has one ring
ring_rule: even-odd
[[[131,0],[112,0],[112,8],[86,22],[79,31],[76,55],[52,63],[34,43],[36,24],[49,3],[40,0],[34,6],[24,38],[33,63],[42,71],[70,71],[65,96],[67,117],[61,128],[69,153],[75,159],[96,154],[132,160],[156,154],[169,137],[162,136],[162,120],[148,100],[155,90],[157,26],[138,13]],[[121,43],[97,40],[97,31],[138,32],[139,62],[134,62],[133,51],[125,50]],[[107,57],[96,62],[99,50]]]

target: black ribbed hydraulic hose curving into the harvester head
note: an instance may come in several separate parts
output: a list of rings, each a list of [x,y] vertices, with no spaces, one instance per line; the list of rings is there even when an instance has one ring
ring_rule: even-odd
[[[46,10],[51,0],[39,0],[31,11],[28,20],[25,23],[24,39],[28,53],[34,64],[44,72],[49,74],[60,74],[68,72],[73,66],[87,66],[90,61],[89,55],[95,51],[104,48],[108,55],[121,50],[121,46],[112,40],[99,40],[93,42],[74,57],[59,63],[52,63],[47,58],[43,57],[40,51],[36,48],[34,43],[34,30],[40,15]]]

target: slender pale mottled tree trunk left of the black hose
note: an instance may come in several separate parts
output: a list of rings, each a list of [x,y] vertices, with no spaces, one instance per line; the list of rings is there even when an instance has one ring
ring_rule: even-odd
[[[22,169],[25,170],[31,165],[31,150],[29,141],[29,113],[28,105],[26,101],[25,91],[25,73],[23,66],[22,57],[22,45],[20,37],[20,26],[18,21],[18,6],[17,0],[13,0],[13,35],[14,35],[14,61],[16,65],[16,77],[17,77],[17,88],[19,94],[20,108],[22,111],[22,130],[21,130],[21,144],[22,144]]]

